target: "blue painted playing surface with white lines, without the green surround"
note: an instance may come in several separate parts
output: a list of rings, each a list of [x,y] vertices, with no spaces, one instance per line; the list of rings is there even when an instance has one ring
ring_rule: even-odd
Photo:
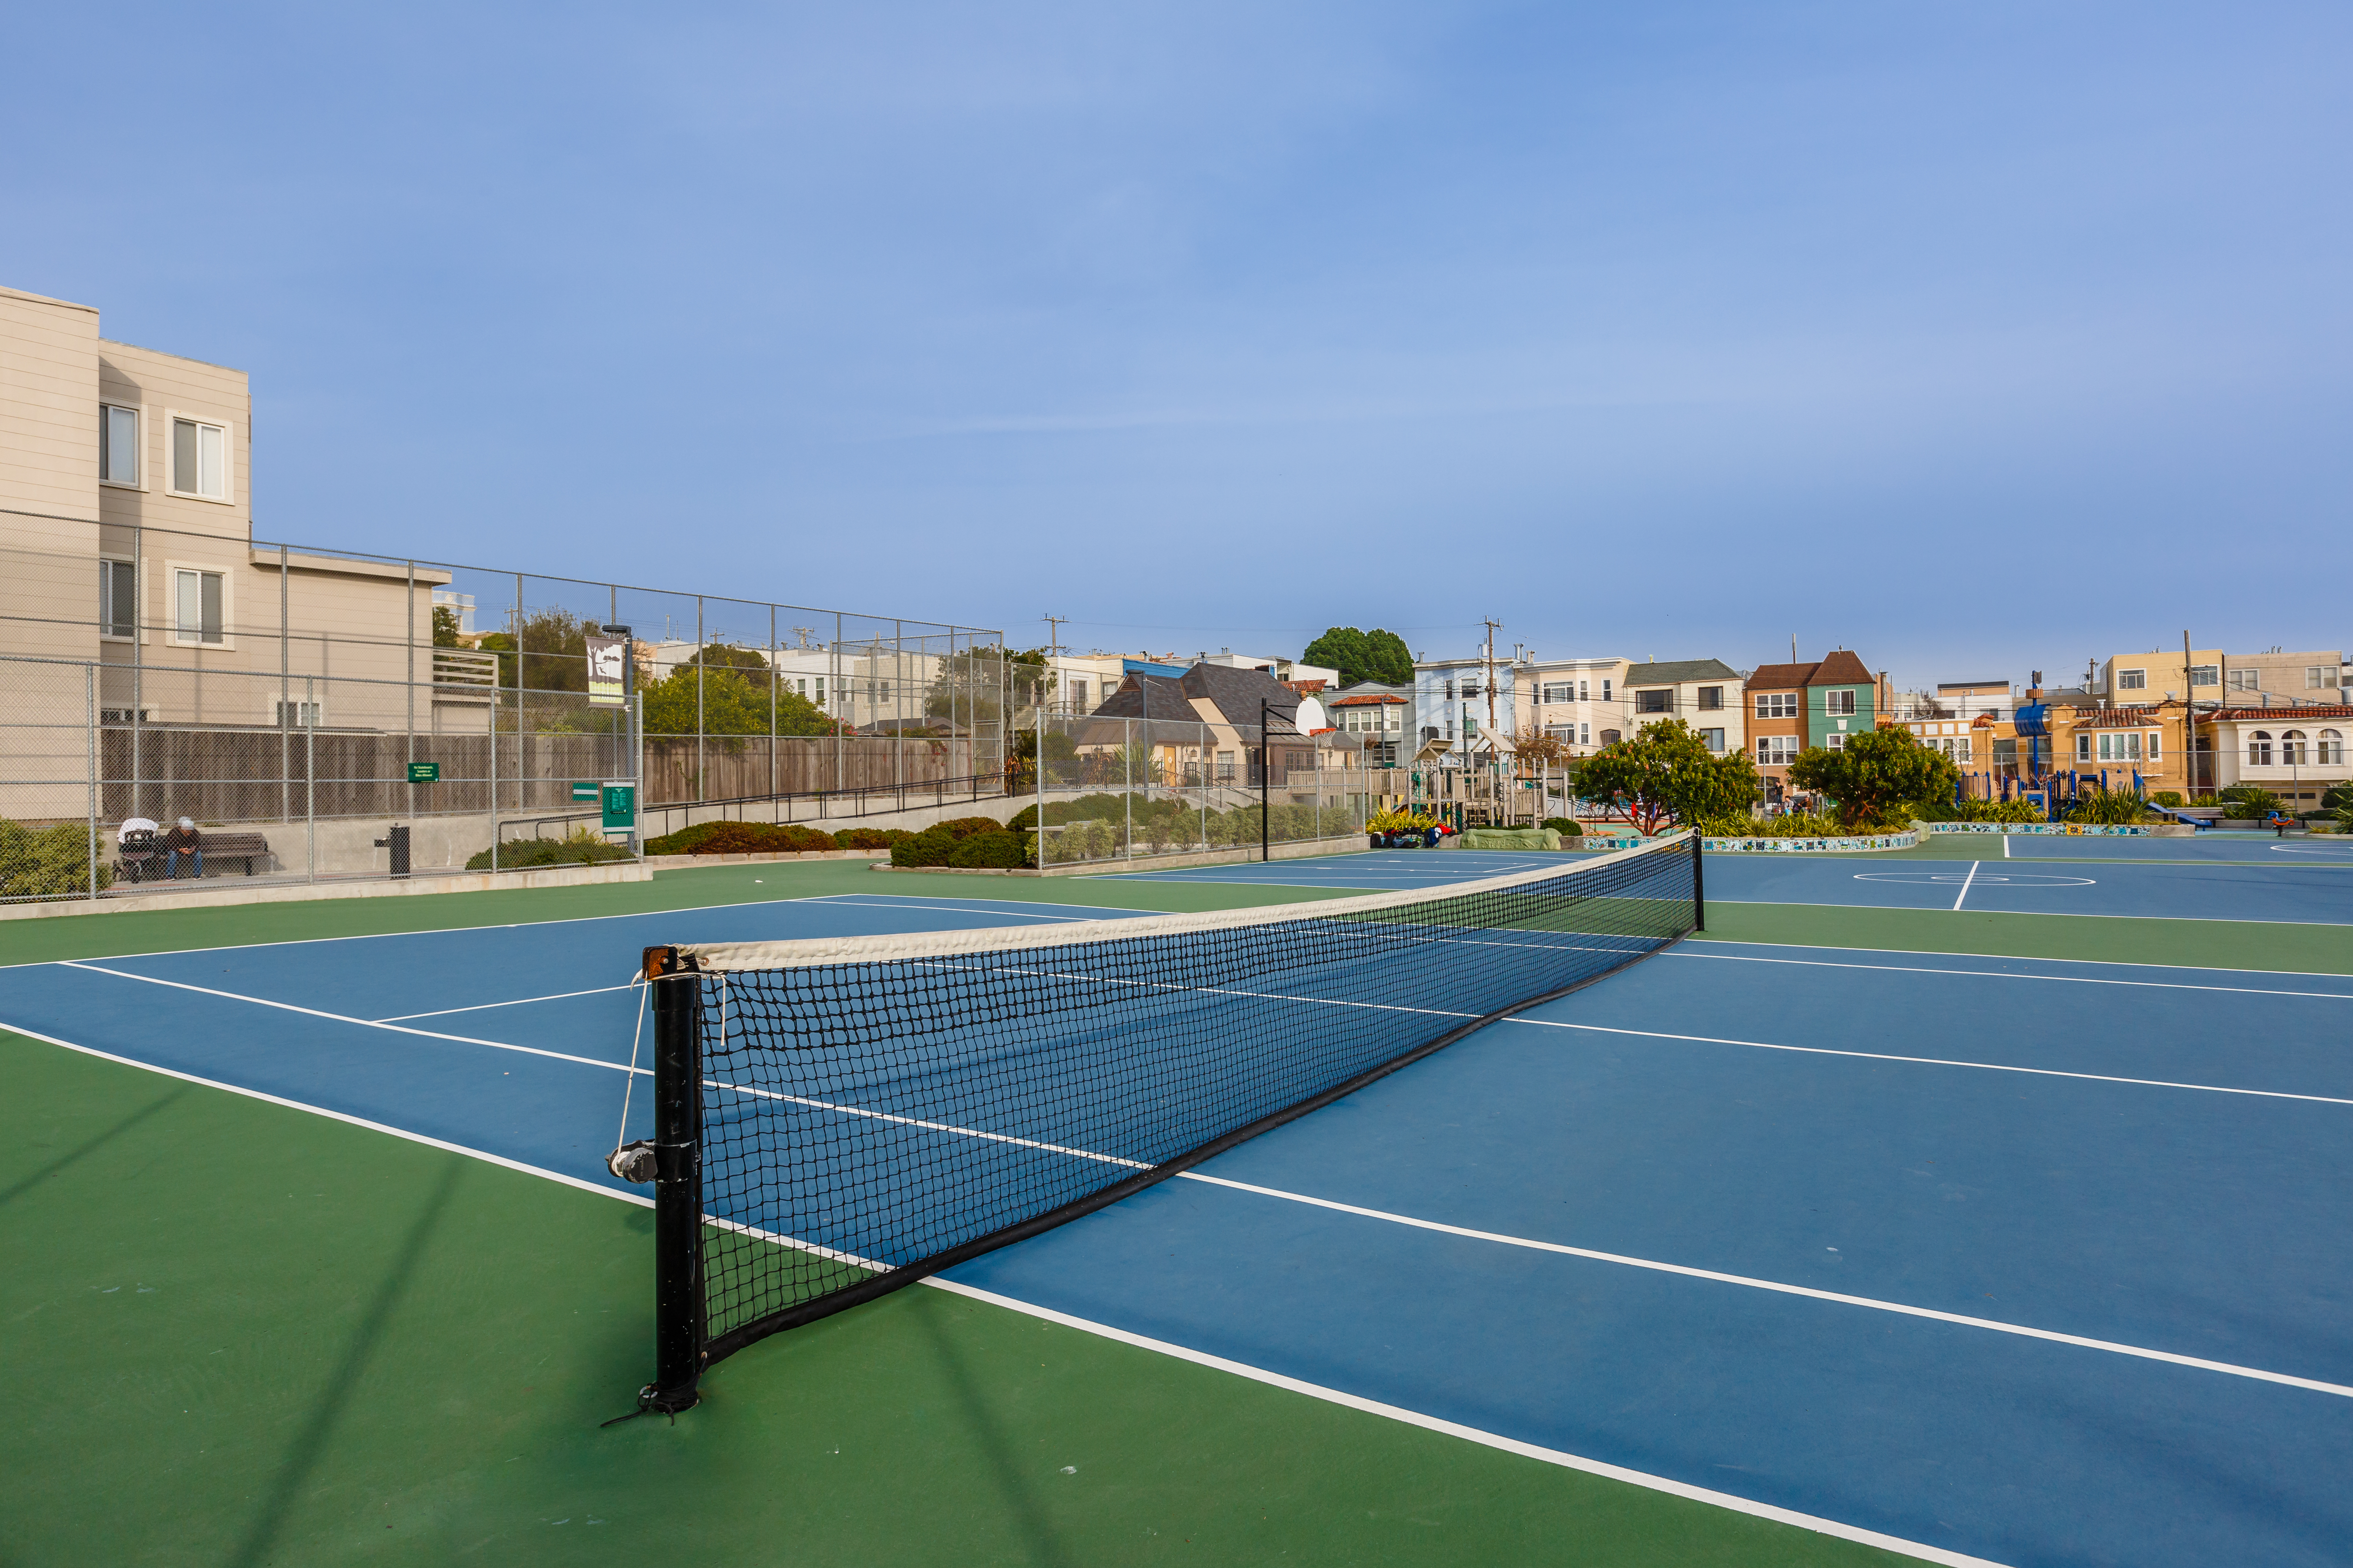
[[[1713,898],[1948,907],[1962,884],[1854,877],[1969,867],[1706,875]],[[1967,907],[2353,910],[2334,870],[2073,875]],[[40,964],[0,969],[0,1025],[614,1190],[640,947],[1120,914],[856,893]],[[1944,1554],[2344,1563],[2348,1023],[2339,976],[1687,940],[951,1276]]]

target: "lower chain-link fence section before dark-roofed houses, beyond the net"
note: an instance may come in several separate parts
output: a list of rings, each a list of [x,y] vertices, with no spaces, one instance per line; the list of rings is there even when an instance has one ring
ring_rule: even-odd
[[[1045,863],[1141,860],[1315,839],[1362,842],[1374,778],[1362,745],[1327,731],[1181,719],[1047,717],[1014,792]]]

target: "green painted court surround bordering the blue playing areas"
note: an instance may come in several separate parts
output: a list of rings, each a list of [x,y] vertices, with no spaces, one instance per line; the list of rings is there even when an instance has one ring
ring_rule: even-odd
[[[1311,896],[739,865],[602,889],[9,922],[0,957],[842,891],[1153,910]],[[1708,936],[2353,964],[2322,929],[1932,910],[1720,907]],[[675,1425],[607,1429],[649,1368],[649,1211],[14,1034],[0,1034],[0,1084],[14,1112],[0,1150],[7,1563],[680,1549],[765,1563],[1904,1561],[941,1288],[720,1366]]]

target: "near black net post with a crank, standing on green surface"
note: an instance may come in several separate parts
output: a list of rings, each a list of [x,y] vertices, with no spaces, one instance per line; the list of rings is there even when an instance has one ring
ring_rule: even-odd
[[[704,985],[678,947],[645,950],[654,987],[654,1382],[638,1403],[675,1415],[704,1375]]]

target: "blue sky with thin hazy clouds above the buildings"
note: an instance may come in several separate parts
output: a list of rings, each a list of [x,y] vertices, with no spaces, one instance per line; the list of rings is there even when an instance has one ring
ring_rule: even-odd
[[[9,28],[0,282],[249,369],[264,536],[1127,649],[2353,642],[2341,5]]]

